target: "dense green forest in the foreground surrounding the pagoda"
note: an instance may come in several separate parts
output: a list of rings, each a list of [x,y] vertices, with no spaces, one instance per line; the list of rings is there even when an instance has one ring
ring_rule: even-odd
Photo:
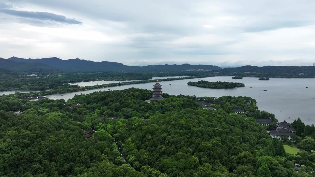
[[[255,122],[277,121],[274,114],[258,110],[250,97],[164,93],[164,100],[145,102],[151,95],[130,88],[76,95],[67,102],[0,96],[0,176],[313,176],[313,125],[292,123],[302,151],[286,154],[283,143]],[[203,109],[197,100],[213,103],[217,111]],[[73,103],[80,105],[70,108]],[[235,114],[235,108],[246,112]],[[306,167],[296,171],[294,163]]]

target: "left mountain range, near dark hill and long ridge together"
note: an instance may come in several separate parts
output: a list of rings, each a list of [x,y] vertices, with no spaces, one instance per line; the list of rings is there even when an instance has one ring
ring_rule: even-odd
[[[90,61],[80,59],[61,60],[57,57],[42,59],[25,59],[11,57],[0,58],[0,67],[15,71],[183,71],[183,70],[219,70],[213,65],[148,65],[127,66],[109,61]]]

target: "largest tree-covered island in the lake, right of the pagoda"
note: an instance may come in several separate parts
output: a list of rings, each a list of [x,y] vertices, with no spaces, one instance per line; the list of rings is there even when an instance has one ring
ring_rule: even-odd
[[[209,82],[209,81],[198,81],[198,82],[188,82],[188,85],[203,87],[203,88],[237,88],[245,87],[243,83],[234,83],[234,82]]]

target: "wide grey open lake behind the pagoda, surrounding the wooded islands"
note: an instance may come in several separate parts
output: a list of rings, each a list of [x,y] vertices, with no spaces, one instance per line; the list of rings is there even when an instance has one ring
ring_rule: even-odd
[[[198,80],[206,80],[212,82],[230,80],[230,82],[244,83],[246,87],[231,89],[210,89],[187,85],[189,81],[197,82]],[[287,122],[293,122],[294,119],[300,117],[301,120],[306,124],[315,124],[315,113],[312,112],[315,105],[315,78],[309,80],[270,78],[269,81],[259,81],[256,77],[243,77],[243,79],[237,79],[237,81],[235,81],[235,79],[232,79],[231,76],[219,76],[200,79],[196,78],[176,81],[163,81],[159,83],[162,85],[162,91],[171,95],[183,94],[190,96],[196,95],[199,97],[221,97],[228,95],[249,96],[257,101],[257,106],[260,110],[274,113],[279,121],[286,120]],[[48,95],[47,97],[54,100],[68,100],[70,98],[73,98],[75,94],[89,94],[95,91],[107,91],[108,89],[121,90],[135,87],[152,90],[153,84],[154,83],[123,85],[110,88],[85,90],[67,94]],[[0,92],[0,94],[2,95],[3,93]]]

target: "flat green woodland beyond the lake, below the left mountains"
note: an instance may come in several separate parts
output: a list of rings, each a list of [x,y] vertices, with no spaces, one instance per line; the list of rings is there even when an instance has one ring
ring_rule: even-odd
[[[34,74],[33,76],[27,76]],[[120,85],[154,82],[152,77],[164,76],[187,76],[172,78],[172,80],[201,78],[210,76],[219,76],[218,73],[204,74],[201,71],[192,72],[97,72],[97,73],[75,73],[75,72],[14,72],[0,69],[0,91],[18,91],[18,90],[50,90],[53,93],[67,93],[83,89],[71,86],[68,83],[88,82],[97,80],[108,81],[126,81],[138,80],[134,82],[119,83]],[[151,81],[148,81],[151,80]],[[165,81],[170,79],[164,79]],[[115,85],[113,85],[115,86]],[[109,87],[107,84],[84,87],[84,89],[95,89]]]

